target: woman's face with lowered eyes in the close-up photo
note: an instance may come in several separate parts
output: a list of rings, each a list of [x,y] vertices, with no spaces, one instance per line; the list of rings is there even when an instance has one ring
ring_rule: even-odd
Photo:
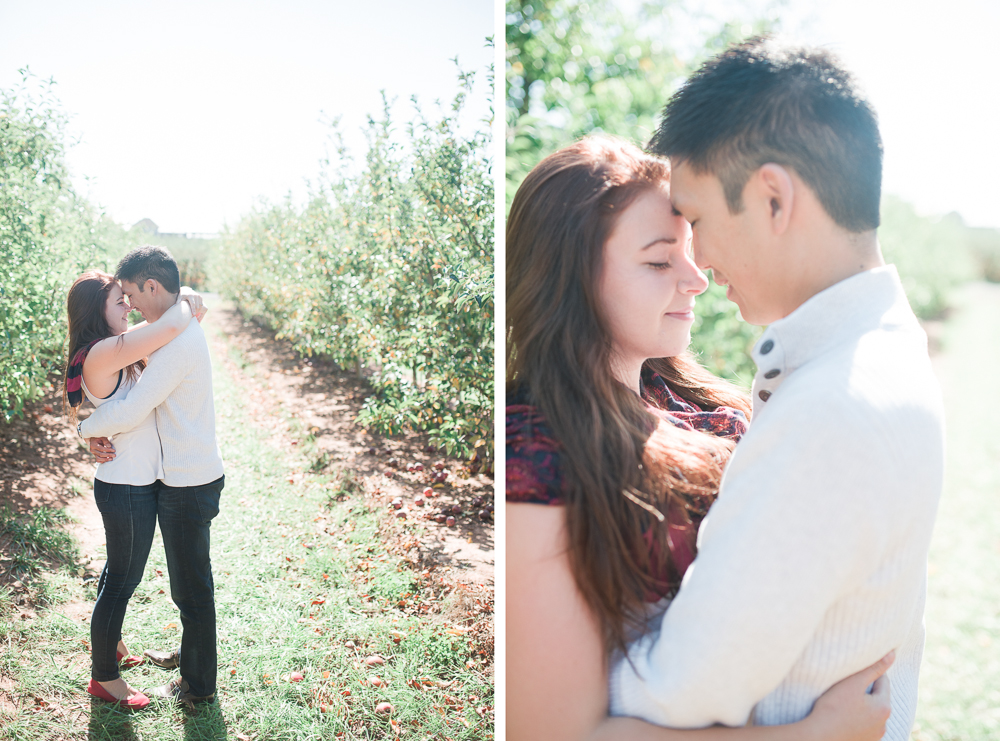
[[[708,278],[691,259],[691,227],[666,187],[625,209],[604,244],[598,293],[616,361],[637,369],[678,355],[691,342],[694,298]]]

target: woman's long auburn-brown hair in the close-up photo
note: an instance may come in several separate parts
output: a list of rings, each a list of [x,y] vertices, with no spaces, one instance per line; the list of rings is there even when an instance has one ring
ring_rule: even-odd
[[[528,174],[507,220],[507,394],[527,394],[561,445],[570,563],[608,651],[642,629],[652,575],[668,573],[669,548],[644,547],[645,534],[666,543],[663,519],[675,502],[703,515],[733,449],[660,422],[611,371],[598,301],[604,244],[617,216],[669,177],[666,160],[589,137]],[[646,364],[702,409],[749,417],[747,395],[690,353]]]

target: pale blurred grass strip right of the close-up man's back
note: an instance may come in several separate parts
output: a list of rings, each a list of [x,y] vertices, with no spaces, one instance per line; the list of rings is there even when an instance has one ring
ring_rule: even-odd
[[[940,376],[945,488],[931,542],[919,741],[1000,738],[1000,286],[955,296]]]

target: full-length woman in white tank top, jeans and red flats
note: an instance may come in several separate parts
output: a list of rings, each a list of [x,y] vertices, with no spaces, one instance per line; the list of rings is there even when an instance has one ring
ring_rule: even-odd
[[[66,298],[68,348],[64,402],[71,419],[84,394],[95,406],[121,399],[139,380],[145,358],[199,321],[205,309],[196,293],[177,303],[152,324],[129,327],[131,311],[113,276],[89,270],[78,277]],[[128,708],[149,699],[121,678],[119,668],[142,663],[131,656],[121,629],[129,598],[142,579],[156,526],[157,480],[162,477],[156,418],[115,436],[115,457],[99,463],[94,500],[104,519],[108,561],[97,586],[90,621],[91,680],[87,691]]]

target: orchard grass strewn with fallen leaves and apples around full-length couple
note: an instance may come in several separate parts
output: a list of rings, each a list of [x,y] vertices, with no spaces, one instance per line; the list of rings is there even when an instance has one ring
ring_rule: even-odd
[[[297,449],[307,446],[276,447],[240,382],[223,359],[214,363],[226,461],[212,526],[217,704],[128,715],[92,703],[89,626],[42,610],[0,622],[0,686],[12,681],[19,703],[0,715],[0,739],[492,738],[492,644],[485,656],[467,618],[482,596],[421,570],[412,546],[422,525],[391,517],[370,484],[349,469],[311,472],[308,451]],[[95,597],[92,583],[68,574],[46,583],[56,602]],[[179,642],[168,594],[157,535],[126,616],[133,652]],[[292,672],[302,680],[289,681]],[[140,688],[172,676],[149,666],[125,673]],[[391,712],[376,712],[386,702]]]

